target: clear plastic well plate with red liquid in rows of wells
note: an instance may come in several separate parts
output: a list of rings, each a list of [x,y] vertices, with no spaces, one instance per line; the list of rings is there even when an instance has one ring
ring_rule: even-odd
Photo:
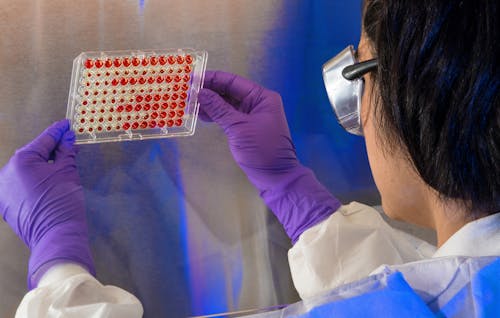
[[[81,53],[66,114],[76,143],[194,134],[206,60],[191,49]]]

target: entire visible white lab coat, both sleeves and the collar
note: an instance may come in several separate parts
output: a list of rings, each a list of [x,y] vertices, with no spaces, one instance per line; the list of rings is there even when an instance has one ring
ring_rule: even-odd
[[[443,293],[464,257],[490,255],[500,255],[500,214],[468,223],[436,250],[390,227],[378,211],[356,202],[305,231],[288,253],[292,278],[303,299],[388,268],[401,270],[412,287],[420,284],[423,290]],[[419,273],[430,276],[422,281]],[[458,279],[467,281],[470,274]],[[444,287],[434,286],[440,281]],[[432,283],[425,286],[426,282]],[[142,312],[133,295],[101,285],[77,265],[64,264],[51,268],[26,294],[16,317],[135,318]]]

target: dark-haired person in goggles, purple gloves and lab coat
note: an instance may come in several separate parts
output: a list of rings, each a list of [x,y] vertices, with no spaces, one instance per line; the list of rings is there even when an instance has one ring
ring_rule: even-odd
[[[366,0],[357,50],[324,66],[340,124],[364,136],[385,213],[433,228],[437,246],[330,194],[297,159],[278,93],[206,73],[200,117],[224,130],[293,243],[304,301],[277,316],[498,315],[498,6]],[[0,172],[0,211],[31,250],[17,316],[139,317],[135,297],[93,277],[73,141],[55,123]]]

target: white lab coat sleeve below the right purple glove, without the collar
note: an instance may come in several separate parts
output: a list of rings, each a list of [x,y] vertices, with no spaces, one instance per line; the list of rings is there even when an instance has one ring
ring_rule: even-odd
[[[352,202],[302,233],[288,261],[295,288],[306,299],[364,278],[380,265],[429,258],[435,251],[392,228],[374,208]]]

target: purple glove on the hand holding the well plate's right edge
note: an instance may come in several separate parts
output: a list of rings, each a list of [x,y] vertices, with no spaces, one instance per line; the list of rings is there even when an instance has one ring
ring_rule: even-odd
[[[198,95],[201,119],[224,129],[234,159],[293,243],[339,208],[297,160],[278,93],[220,71],[207,71],[204,87]]]

